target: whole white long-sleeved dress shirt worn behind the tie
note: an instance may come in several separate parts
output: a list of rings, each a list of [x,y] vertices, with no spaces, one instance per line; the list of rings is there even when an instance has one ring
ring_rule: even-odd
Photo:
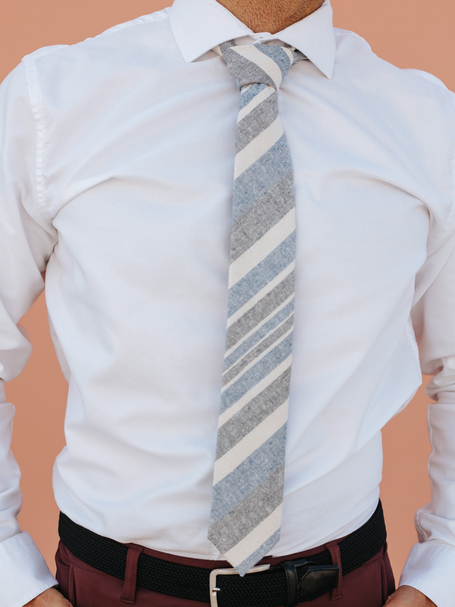
[[[44,288],[69,380],[59,508],[121,542],[222,558],[207,526],[226,334],[240,93],[220,42],[308,56],[278,93],[295,178],[295,328],[281,539],[286,555],[376,509],[381,428],[430,393],[431,504],[402,582],[455,595],[454,95],[400,70],[329,0],[275,35],[215,0],[26,56],[0,88],[0,376]],[[412,319],[412,320],[411,320]],[[416,337],[417,342],[416,342]],[[420,348],[420,365],[419,351]],[[13,405],[0,399],[0,605],[55,584],[21,532]]]

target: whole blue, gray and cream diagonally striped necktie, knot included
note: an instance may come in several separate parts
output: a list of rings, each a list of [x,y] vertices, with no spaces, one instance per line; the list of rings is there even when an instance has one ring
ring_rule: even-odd
[[[280,539],[294,311],[295,203],[277,91],[305,55],[220,50],[241,91],[227,337],[209,540],[246,574]]]

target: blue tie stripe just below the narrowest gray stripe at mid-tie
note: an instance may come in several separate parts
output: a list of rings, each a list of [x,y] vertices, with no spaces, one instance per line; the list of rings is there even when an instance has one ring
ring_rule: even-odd
[[[253,365],[246,373],[244,373],[237,381],[229,388],[224,390],[221,395],[220,415],[229,407],[237,402],[248,390],[256,385],[261,379],[278,367],[281,362],[285,361],[292,353],[292,333],[285,339],[280,341],[273,350],[269,351],[263,358]]]

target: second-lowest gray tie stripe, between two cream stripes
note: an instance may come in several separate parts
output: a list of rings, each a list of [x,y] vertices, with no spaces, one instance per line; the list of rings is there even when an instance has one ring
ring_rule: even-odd
[[[229,449],[241,441],[251,430],[266,419],[277,407],[283,404],[289,396],[289,382],[291,381],[291,368],[275,379],[265,390],[245,405],[226,424],[218,429],[217,455],[219,459]]]

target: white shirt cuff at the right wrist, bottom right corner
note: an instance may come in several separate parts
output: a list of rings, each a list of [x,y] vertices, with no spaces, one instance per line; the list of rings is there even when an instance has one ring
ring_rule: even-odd
[[[414,544],[399,586],[413,586],[437,607],[453,607],[455,596],[455,548],[449,544]]]

